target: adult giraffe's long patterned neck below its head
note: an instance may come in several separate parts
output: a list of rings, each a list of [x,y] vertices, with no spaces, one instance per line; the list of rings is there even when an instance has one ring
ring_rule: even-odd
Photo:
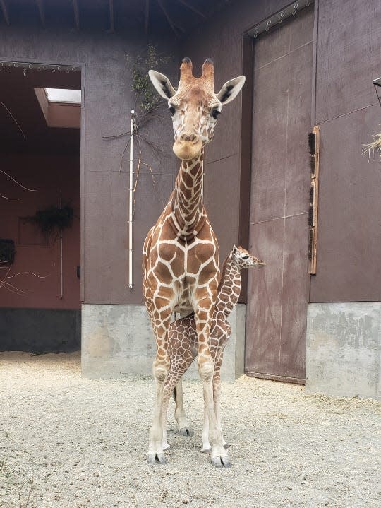
[[[202,203],[203,159],[202,150],[198,158],[181,162],[172,193],[172,220],[183,240],[197,235],[206,219]]]

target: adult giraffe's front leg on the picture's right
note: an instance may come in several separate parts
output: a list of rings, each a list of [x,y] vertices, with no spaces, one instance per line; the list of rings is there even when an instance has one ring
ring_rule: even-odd
[[[210,355],[209,333],[212,323],[212,309],[198,307],[195,312],[196,329],[198,332],[198,372],[202,379],[204,403],[209,423],[209,441],[211,459],[217,468],[231,467],[226,449],[224,449],[222,431],[217,426],[213,400],[214,362]]]

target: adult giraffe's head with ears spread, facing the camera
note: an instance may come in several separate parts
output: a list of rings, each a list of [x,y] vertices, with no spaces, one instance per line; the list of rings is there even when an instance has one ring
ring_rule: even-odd
[[[149,71],[149,75],[159,95],[168,100],[174,124],[174,153],[181,160],[200,155],[213,137],[222,106],[236,98],[245,83],[245,76],[238,76],[214,93],[214,65],[210,59],[202,65],[202,76],[195,78],[191,59],[184,58],[177,90],[164,74]]]

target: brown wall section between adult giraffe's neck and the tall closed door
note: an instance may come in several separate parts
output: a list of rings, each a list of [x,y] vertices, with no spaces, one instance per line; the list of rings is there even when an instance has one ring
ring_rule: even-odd
[[[214,83],[218,91],[225,81],[243,73],[243,33],[284,6],[284,0],[235,1],[234,5],[200,27],[183,45],[182,53],[191,58],[195,76],[206,58],[214,61]],[[248,77],[248,76],[247,76]],[[247,84],[245,85],[247,86]],[[219,240],[223,260],[240,229],[248,230],[248,215],[240,223],[241,194],[241,114],[242,94],[226,105],[219,117],[214,138],[205,148],[205,206]],[[245,188],[250,192],[250,185]],[[247,246],[244,246],[247,247]],[[246,301],[246,295],[243,295]]]

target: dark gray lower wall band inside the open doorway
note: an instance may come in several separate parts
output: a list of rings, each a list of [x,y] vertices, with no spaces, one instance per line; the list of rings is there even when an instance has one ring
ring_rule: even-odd
[[[0,309],[0,351],[80,350],[80,310]]]

